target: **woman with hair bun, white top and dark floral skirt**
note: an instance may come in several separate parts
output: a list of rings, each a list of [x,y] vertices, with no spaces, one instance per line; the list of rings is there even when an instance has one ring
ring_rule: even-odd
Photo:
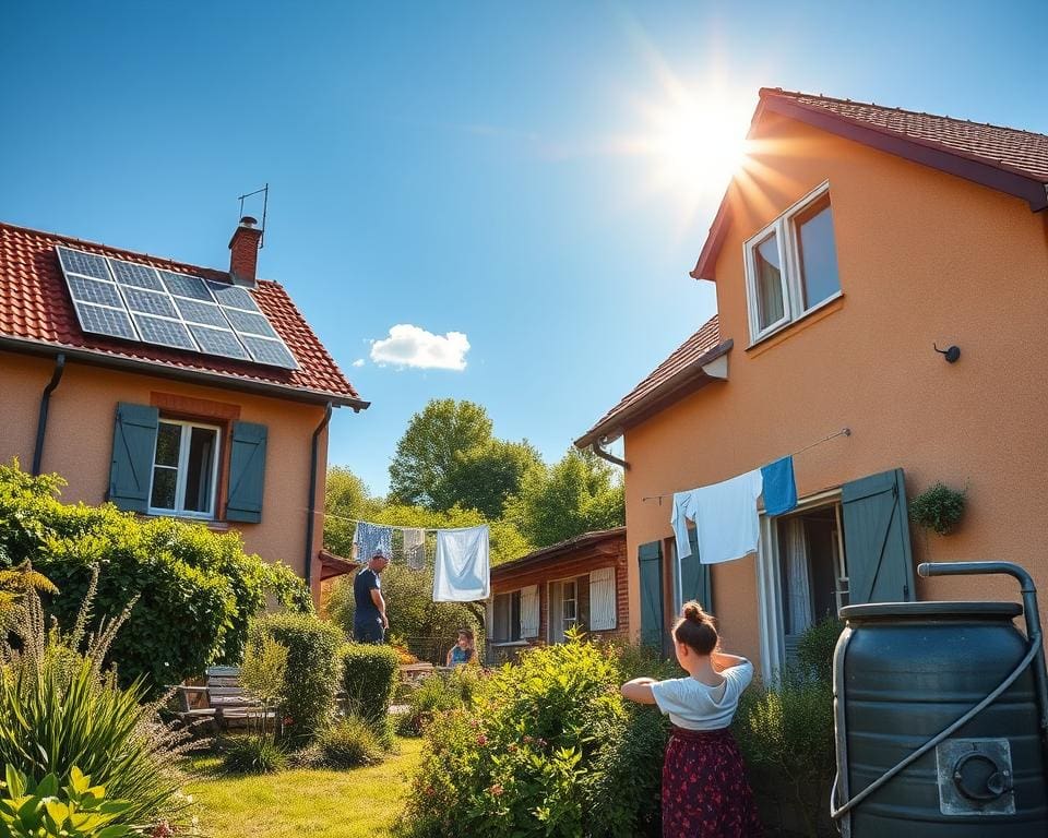
[[[631,702],[669,714],[672,734],[663,761],[663,838],[751,838],[763,834],[729,726],[753,665],[718,649],[713,618],[688,602],[674,626],[677,661],[687,678],[635,678]]]

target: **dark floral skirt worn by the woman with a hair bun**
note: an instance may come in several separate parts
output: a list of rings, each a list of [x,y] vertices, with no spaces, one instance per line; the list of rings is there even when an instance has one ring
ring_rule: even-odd
[[[675,727],[663,762],[663,838],[763,834],[731,731]]]

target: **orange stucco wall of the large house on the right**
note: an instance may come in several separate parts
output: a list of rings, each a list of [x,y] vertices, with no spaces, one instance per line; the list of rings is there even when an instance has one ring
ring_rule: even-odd
[[[729,380],[626,434],[631,610],[638,547],[670,535],[668,503],[642,498],[844,427],[849,439],[795,458],[801,496],[896,467],[909,496],[936,480],[967,487],[954,535],[913,530],[915,561],[1014,561],[1048,592],[1048,213],[795,120],[766,115],[761,128],[716,264]],[[743,241],[826,180],[843,299],[749,348]],[[933,343],[958,345],[960,361]],[[715,566],[713,587],[726,644],[758,657],[755,560]],[[1019,599],[1008,577],[918,579],[918,597]]]

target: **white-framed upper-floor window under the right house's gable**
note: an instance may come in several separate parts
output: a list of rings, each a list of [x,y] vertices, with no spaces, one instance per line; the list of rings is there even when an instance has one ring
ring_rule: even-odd
[[[841,294],[830,184],[746,242],[751,343]]]

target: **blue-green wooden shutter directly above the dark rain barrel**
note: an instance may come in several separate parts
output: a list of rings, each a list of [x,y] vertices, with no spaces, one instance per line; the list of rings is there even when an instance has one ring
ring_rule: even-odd
[[[844,551],[848,602],[907,602],[914,599],[903,469],[845,483]]]

